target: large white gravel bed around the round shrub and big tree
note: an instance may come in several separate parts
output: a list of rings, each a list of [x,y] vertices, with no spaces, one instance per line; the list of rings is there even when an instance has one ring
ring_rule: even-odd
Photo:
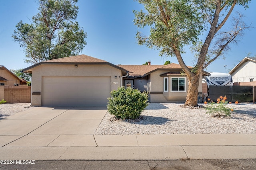
[[[231,117],[217,118],[206,109],[189,109],[182,104],[150,103],[138,122],[113,121],[107,113],[95,135],[256,133],[256,104],[230,104]]]

